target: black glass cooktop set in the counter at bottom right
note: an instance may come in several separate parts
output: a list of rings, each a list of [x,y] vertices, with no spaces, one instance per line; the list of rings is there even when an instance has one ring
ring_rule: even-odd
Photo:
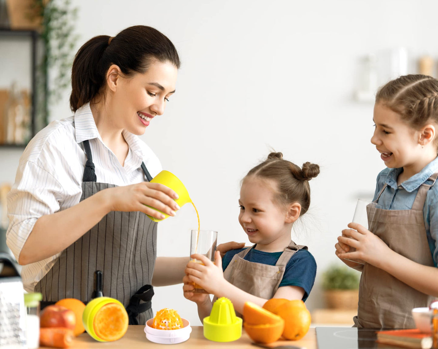
[[[376,331],[381,328],[317,327],[318,349],[400,348],[377,343]]]

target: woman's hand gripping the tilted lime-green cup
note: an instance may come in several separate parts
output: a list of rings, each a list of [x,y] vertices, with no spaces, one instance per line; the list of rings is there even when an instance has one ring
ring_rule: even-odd
[[[102,195],[105,195],[104,200],[109,205],[109,211],[140,211],[157,219],[163,219],[162,213],[148,206],[171,216],[174,216],[175,211],[180,209],[174,201],[178,198],[177,193],[160,183],[141,182],[108,188],[102,190]]]

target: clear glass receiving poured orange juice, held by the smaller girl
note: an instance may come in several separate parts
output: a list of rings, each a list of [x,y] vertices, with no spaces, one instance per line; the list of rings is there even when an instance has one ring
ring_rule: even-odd
[[[215,259],[216,243],[218,232],[212,230],[192,230],[191,231],[191,243],[190,243],[190,255],[198,253],[203,254],[210,261]],[[196,259],[192,259],[192,262],[201,263]],[[208,293],[196,283],[194,285],[194,293]]]

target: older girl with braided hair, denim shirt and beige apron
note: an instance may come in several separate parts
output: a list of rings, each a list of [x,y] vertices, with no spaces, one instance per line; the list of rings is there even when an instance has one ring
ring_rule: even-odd
[[[367,207],[371,231],[350,223],[335,245],[362,271],[357,327],[414,328],[412,308],[438,297],[437,96],[438,80],[425,75],[401,76],[377,92],[371,143],[386,168]]]

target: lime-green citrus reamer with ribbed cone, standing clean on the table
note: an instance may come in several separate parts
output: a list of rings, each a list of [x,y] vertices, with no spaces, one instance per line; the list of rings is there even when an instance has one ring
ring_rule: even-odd
[[[232,342],[242,336],[242,319],[236,316],[233,303],[221,297],[213,304],[210,316],[204,317],[204,337],[214,342]]]

